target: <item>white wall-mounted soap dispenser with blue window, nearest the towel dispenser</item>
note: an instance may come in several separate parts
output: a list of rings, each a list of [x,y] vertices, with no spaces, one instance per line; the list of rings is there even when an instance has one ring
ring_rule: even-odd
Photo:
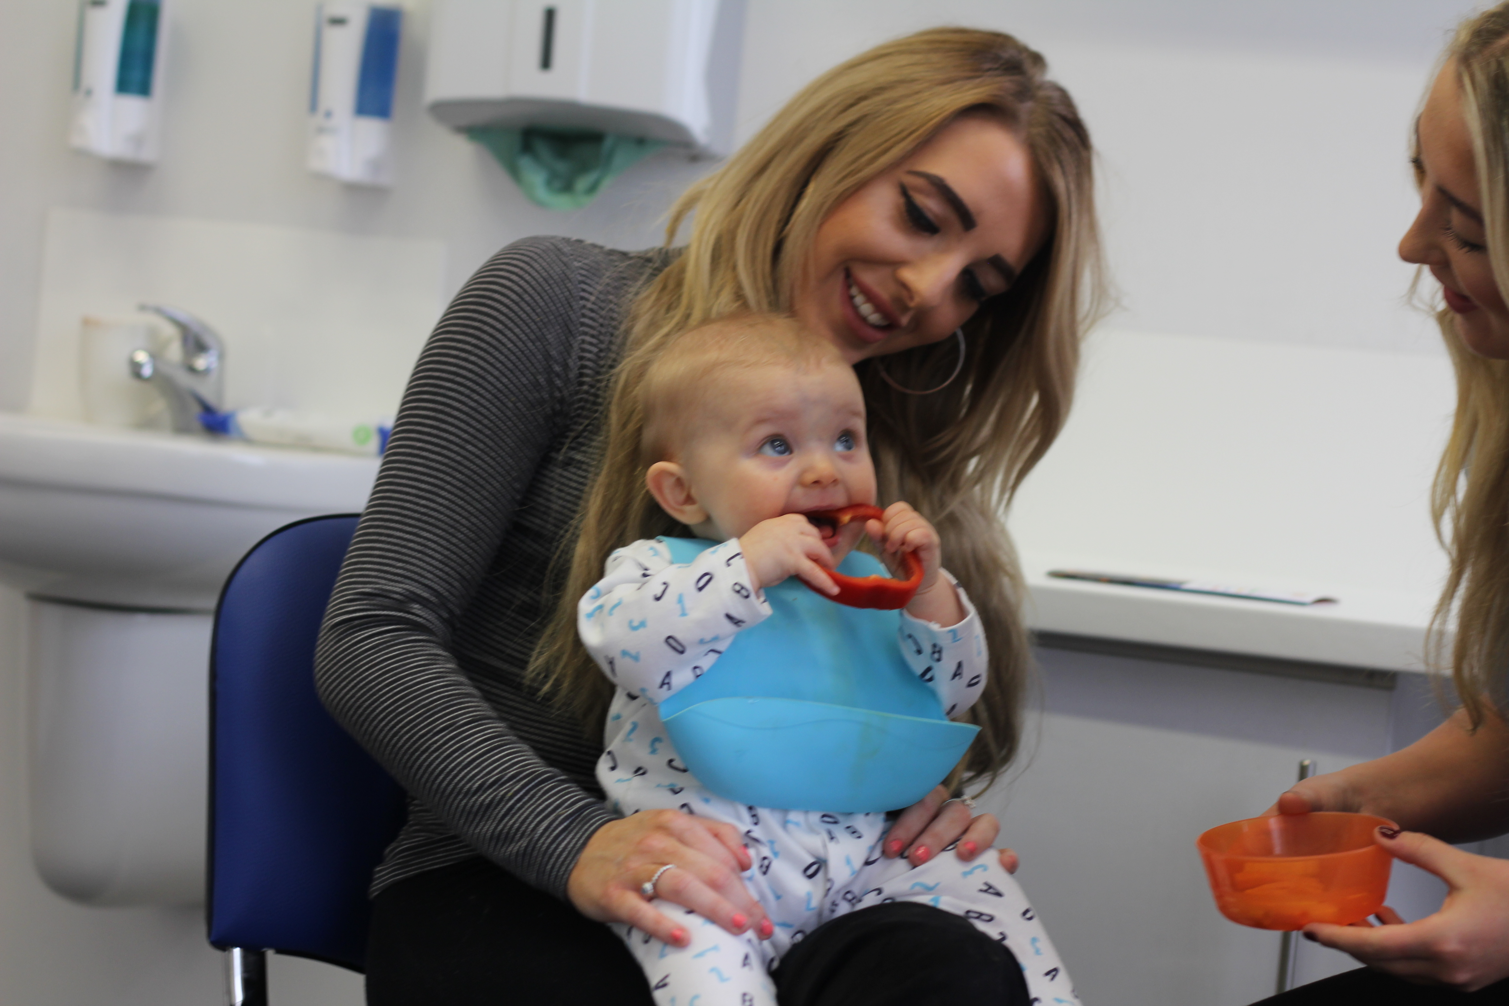
[[[359,186],[392,184],[392,92],[403,11],[321,3],[309,89],[309,170]]]

